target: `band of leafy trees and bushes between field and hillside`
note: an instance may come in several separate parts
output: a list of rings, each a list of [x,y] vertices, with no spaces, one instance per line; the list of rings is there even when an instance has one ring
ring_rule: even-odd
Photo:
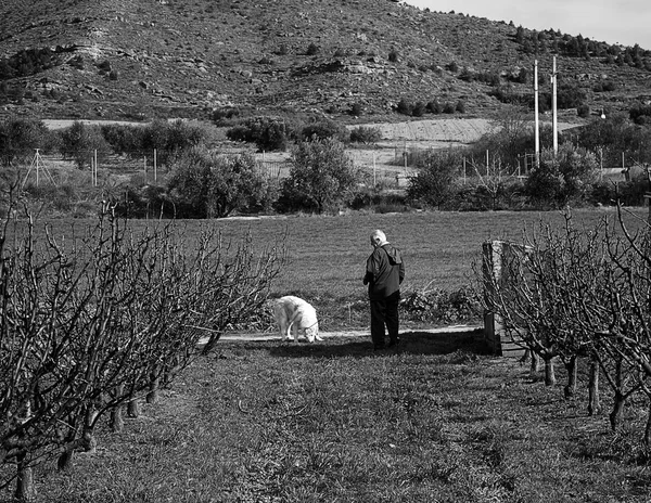
[[[220,218],[348,208],[552,209],[613,205],[616,198],[640,205],[649,190],[646,169],[651,163],[648,108],[640,105],[628,115],[605,111],[603,119],[596,117],[561,132],[556,152],[550,147],[551,127],[544,126],[537,158],[531,118],[516,107],[507,109],[472,146],[405,152],[396,169],[403,170],[404,164],[409,173],[406,190],[398,193],[387,191],[385,179],[375,180],[347,155],[352,141],[372,146],[376,128],[348,131],[330,120],[239,117],[238,112],[215,120],[229,125],[226,136],[241,149],[239,153],[232,147],[225,152],[207,127],[180,120],[101,127],[75,122],[52,132],[39,121],[10,119],[0,122],[0,159],[9,173],[25,166],[34,149],[41,149],[60,152],[84,170],[93,155],[101,164],[108,155],[136,158],[143,151],[156,152],[156,162],[164,167],[159,172],[165,171],[159,181],[141,177],[116,184],[110,172],[102,173],[95,194],[114,201],[116,211],[129,217]],[[286,172],[270,176],[255,149],[289,151]],[[604,168],[624,171],[620,177],[624,180],[613,183],[603,176]],[[26,183],[25,191],[66,210],[65,202],[79,189]]]

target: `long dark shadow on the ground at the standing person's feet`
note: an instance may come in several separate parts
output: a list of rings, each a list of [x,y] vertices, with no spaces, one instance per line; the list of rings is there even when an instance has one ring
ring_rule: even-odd
[[[430,333],[405,332],[400,334],[400,346],[396,350],[387,348],[383,351],[373,351],[369,337],[336,337],[322,343],[285,343],[271,345],[269,352],[275,357],[284,358],[367,358],[392,357],[395,354],[489,354],[489,349],[484,343],[483,332],[473,330],[469,332]]]

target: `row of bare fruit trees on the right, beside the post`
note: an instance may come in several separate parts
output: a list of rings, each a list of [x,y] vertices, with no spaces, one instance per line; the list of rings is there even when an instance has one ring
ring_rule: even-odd
[[[525,235],[523,250],[502,257],[499,281],[483,274],[485,308],[499,314],[514,339],[540,354],[549,372],[556,358],[566,369],[565,396],[576,387],[579,358],[589,361],[590,413],[598,412],[599,375],[613,392],[611,427],[622,423],[626,401],[650,400],[644,443],[651,443],[651,254],[650,228],[630,232],[620,208],[592,229],[541,225]]]

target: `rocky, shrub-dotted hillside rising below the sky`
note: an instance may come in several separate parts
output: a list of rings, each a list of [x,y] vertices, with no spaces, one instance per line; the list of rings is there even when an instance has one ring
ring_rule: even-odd
[[[400,99],[462,101],[489,117],[503,106],[495,82],[463,76],[499,75],[526,94],[512,76],[534,59],[547,75],[552,60],[507,23],[390,0],[3,0],[0,34],[0,114],[40,118],[206,118],[232,106],[347,119],[357,105],[360,120],[391,121],[405,119]],[[559,55],[559,81],[592,109],[627,109],[651,100],[651,53],[641,56],[636,67]]]

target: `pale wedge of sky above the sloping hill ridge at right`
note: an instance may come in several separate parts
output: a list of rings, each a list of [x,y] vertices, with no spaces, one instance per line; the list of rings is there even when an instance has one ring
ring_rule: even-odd
[[[560,29],[610,44],[651,50],[649,0],[406,0],[431,11],[513,22],[526,29]]]

